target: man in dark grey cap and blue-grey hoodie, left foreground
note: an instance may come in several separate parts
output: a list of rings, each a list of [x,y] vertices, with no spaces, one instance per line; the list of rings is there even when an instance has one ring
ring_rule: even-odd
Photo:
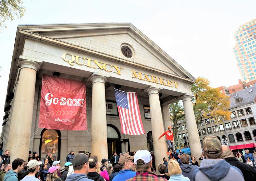
[[[72,162],[74,174],[69,175],[66,181],[93,181],[87,177],[89,172],[89,162],[92,161],[93,160],[88,158],[84,153],[77,154]]]

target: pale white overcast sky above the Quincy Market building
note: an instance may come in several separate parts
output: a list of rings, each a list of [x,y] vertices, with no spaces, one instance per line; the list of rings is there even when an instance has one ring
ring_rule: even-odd
[[[228,87],[240,79],[234,32],[256,18],[256,1],[24,0],[24,7],[25,16],[0,33],[0,119],[18,24],[131,22],[194,77]]]

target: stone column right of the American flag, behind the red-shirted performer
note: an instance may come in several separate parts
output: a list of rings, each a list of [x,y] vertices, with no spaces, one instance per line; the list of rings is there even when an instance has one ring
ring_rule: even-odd
[[[156,170],[158,171],[158,165],[163,163],[164,157],[167,158],[166,137],[164,136],[160,140],[158,140],[160,135],[165,132],[160,100],[158,96],[158,92],[160,91],[160,89],[150,88],[146,91],[148,92],[148,96],[149,96],[155,163],[156,163]]]

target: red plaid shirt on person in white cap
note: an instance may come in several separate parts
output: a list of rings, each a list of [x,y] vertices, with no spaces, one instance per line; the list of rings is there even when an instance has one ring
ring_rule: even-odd
[[[127,181],[166,181],[166,179],[157,177],[157,174],[153,172],[138,171],[135,177],[132,177]]]

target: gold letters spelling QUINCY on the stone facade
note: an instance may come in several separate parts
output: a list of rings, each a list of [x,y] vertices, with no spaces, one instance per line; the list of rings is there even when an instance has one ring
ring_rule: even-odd
[[[69,57],[69,56],[71,56],[71,57]],[[66,62],[68,62],[71,66],[73,66],[74,63],[76,63],[79,66],[87,66],[87,67],[91,67],[91,68],[95,68],[95,69],[105,70],[106,72],[115,72],[119,75],[121,74],[121,70],[124,68],[124,67],[117,67],[117,66],[111,65],[109,63],[99,62],[97,60],[91,60],[86,57],[72,55],[71,53],[64,53],[62,55],[62,59],[65,60]],[[81,61],[80,61],[80,59],[81,59]],[[93,62],[93,66],[92,66],[91,62]]]

